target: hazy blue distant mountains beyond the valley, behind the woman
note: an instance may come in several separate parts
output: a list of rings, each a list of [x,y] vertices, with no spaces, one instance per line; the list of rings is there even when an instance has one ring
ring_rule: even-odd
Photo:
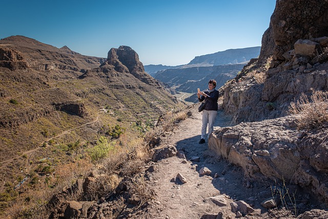
[[[251,58],[260,54],[261,47],[228,49],[213,54],[196,56],[190,63],[179,66],[146,65],[145,71],[176,91],[195,93],[206,89],[209,79],[215,79],[217,89],[234,78]],[[197,101],[194,94],[188,101]]]

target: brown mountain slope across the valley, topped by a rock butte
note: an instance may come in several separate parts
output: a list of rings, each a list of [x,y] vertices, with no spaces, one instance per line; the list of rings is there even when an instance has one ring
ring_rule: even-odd
[[[99,136],[110,138],[108,132],[117,125],[133,141],[152,127],[160,114],[179,105],[144,71],[130,47],[112,49],[104,59],[24,36],[2,39],[0,144],[6,151],[0,155],[2,185],[8,180],[14,183],[13,175],[31,171],[34,165],[20,171],[26,167],[26,159],[32,164],[43,157],[73,160],[62,147],[76,141],[91,143],[91,147]],[[71,129],[74,131],[66,132]],[[20,156],[42,145],[47,150]]]

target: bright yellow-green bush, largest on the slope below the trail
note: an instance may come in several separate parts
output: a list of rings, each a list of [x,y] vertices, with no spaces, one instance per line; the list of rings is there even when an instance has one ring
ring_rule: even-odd
[[[101,136],[97,141],[97,145],[87,151],[92,161],[99,161],[100,159],[105,158],[113,149],[114,145],[109,143],[105,136]]]

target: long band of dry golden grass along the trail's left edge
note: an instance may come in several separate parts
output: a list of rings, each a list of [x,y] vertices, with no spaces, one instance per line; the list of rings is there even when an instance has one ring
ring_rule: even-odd
[[[89,191],[77,191],[78,194],[67,197],[69,200],[97,201],[99,197],[113,194],[120,181],[116,174],[120,172],[126,178],[130,178],[127,193],[130,198],[135,198],[134,201],[138,201],[135,208],[144,206],[154,196],[154,192],[147,188],[144,177],[140,174],[145,162],[150,159],[149,139],[172,131],[177,123],[187,118],[187,111],[180,109],[162,115],[159,124],[147,132],[145,137],[131,139],[129,135],[122,134],[115,140],[114,150],[97,163],[93,163],[90,157],[84,155],[81,159],[75,157],[73,162],[57,166],[55,177],[48,177],[47,183],[43,183],[42,180],[31,190],[24,190],[0,217],[47,218],[49,212],[46,211],[46,203],[51,196],[61,192],[65,187],[71,187],[78,179],[84,180],[90,172],[96,173],[97,176],[95,182],[88,187]],[[115,202],[120,207],[117,207]],[[123,209],[125,202],[119,197],[113,201],[113,212],[117,212],[114,208],[118,208],[119,211]]]

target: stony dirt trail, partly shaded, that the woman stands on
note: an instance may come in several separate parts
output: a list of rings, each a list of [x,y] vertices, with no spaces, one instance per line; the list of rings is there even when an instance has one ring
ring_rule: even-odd
[[[197,106],[191,109],[192,116],[182,121],[171,135],[162,137],[162,145],[174,145],[178,151],[185,153],[187,164],[183,164],[183,159],[178,156],[152,163],[155,171],[150,174],[147,182],[155,190],[155,200],[147,210],[137,212],[133,218],[199,219],[204,214],[219,212],[225,215],[223,218],[236,218],[230,203],[239,200],[256,209],[253,213],[255,217],[241,218],[270,218],[267,210],[260,205],[260,202],[272,197],[270,186],[245,182],[240,168],[220,160],[208,149],[207,139],[205,144],[198,144],[201,113],[197,112]],[[230,118],[218,111],[215,127],[226,127],[229,123]],[[193,156],[199,156],[200,161],[191,162]],[[209,168],[211,175],[201,176],[199,169],[202,167]],[[187,179],[187,183],[182,184],[176,180],[178,173]],[[218,177],[214,177],[215,173]],[[209,199],[217,195],[225,195],[226,206],[220,207]]]

